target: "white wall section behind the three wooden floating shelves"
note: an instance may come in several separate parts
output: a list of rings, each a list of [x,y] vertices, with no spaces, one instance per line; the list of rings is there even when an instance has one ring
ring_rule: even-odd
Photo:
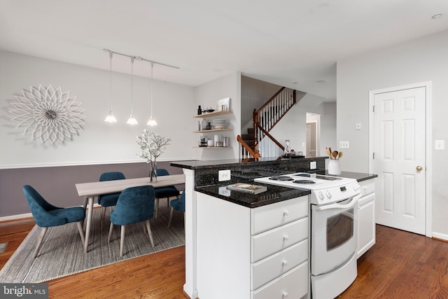
[[[227,119],[230,125],[229,129],[232,131],[220,132],[222,136],[230,138],[231,148],[195,148],[195,158],[200,160],[221,160],[221,159],[235,159],[239,158],[239,144],[237,142],[237,135],[241,131],[241,74],[232,74],[223,78],[218,78],[209,83],[205,83],[195,88],[196,111],[190,115],[188,123],[188,133],[191,136],[191,146],[197,146],[197,141],[201,134],[193,134],[195,130],[195,122],[200,118],[193,118],[197,114],[197,106],[212,106],[218,105],[219,99],[230,97],[230,111],[232,114],[217,116],[214,118]],[[207,118],[209,121],[214,118]],[[214,138],[216,132],[204,134],[209,139]]]

